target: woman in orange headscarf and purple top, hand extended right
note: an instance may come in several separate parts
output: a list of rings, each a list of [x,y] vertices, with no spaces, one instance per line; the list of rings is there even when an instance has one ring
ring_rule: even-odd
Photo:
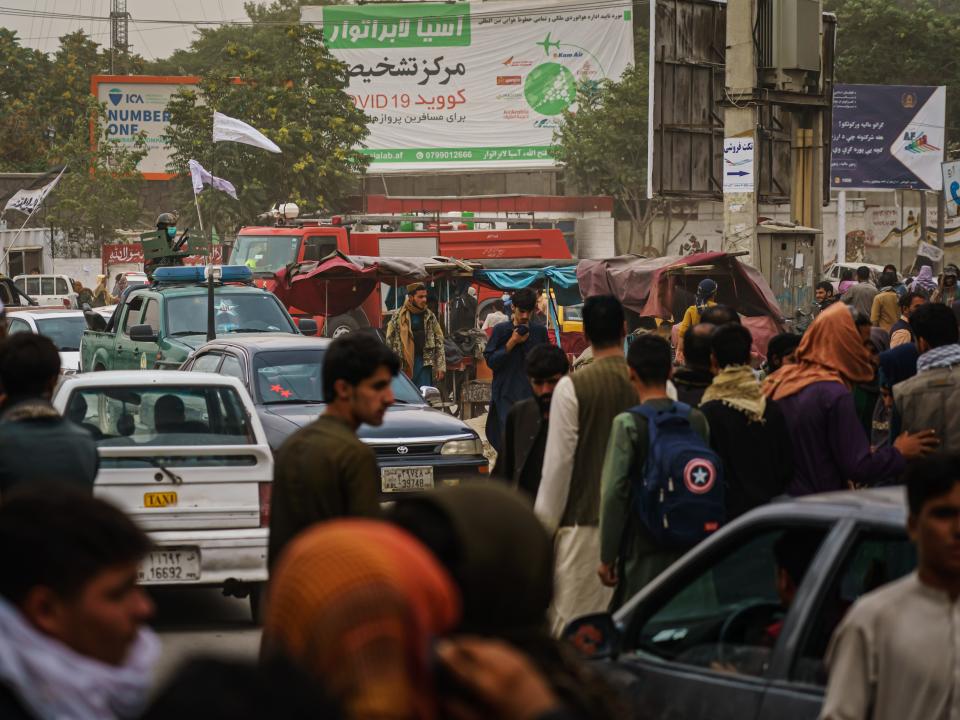
[[[870,382],[874,367],[867,341],[851,309],[837,304],[821,313],[797,348],[797,362],[767,378],[764,392],[776,400],[793,438],[795,473],[791,495],[876,485],[896,478],[906,460],[930,445],[904,433],[893,447],[871,451],[857,418],[851,389]]]

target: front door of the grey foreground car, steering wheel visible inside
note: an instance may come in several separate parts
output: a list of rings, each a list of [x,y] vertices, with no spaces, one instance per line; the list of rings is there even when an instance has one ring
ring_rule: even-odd
[[[781,546],[815,562],[827,520],[753,523],[688,554],[626,619],[619,666],[639,720],[753,720],[790,607]],[[801,581],[802,582],[802,581]]]

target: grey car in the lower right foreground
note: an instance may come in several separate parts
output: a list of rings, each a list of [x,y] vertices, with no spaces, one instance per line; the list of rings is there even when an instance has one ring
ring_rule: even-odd
[[[861,595],[916,569],[903,488],[754,510],[688,552],[615,615],[566,637],[622,683],[630,717],[816,720],[830,637]],[[809,560],[792,597],[778,553]],[[807,553],[804,557],[804,553]]]

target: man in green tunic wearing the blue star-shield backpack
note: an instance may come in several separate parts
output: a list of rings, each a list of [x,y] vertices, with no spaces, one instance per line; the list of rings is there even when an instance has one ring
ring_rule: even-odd
[[[666,340],[653,334],[641,335],[630,345],[627,365],[634,399],[657,410],[674,407],[674,401],[667,396],[671,363]],[[708,440],[707,421],[700,411],[690,411],[690,424],[704,441]],[[614,418],[609,435],[601,480],[597,574],[604,585],[616,588],[610,608],[617,609],[683,552],[658,548],[642,526],[634,505],[635,476],[644,467],[650,446],[646,418],[622,412]]]

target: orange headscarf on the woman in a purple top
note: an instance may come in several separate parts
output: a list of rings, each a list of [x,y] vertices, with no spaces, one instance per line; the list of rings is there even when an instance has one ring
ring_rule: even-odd
[[[834,303],[807,329],[797,348],[797,362],[767,378],[764,394],[773,400],[795,395],[816,382],[838,382],[848,388],[870,382],[874,367],[850,308]]]

